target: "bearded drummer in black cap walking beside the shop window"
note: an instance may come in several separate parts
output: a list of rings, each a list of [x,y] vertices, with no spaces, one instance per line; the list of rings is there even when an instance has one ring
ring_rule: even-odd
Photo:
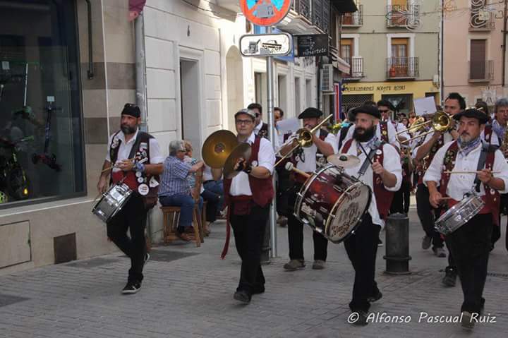
[[[97,183],[99,192],[106,191],[107,169],[112,168],[109,181],[115,184],[123,180],[133,190],[123,208],[107,222],[107,236],[131,258],[131,269],[122,294],[135,294],[143,281],[143,266],[150,258],[145,240],[147,210],[157,203],[158,176],[162,174],[164,162],[157,140],[139,130],[140,115],[139,107],[134,104],[123,107],[121,130],[109,138],[107,156]],[[127,236],[127,229],[131,238]]]

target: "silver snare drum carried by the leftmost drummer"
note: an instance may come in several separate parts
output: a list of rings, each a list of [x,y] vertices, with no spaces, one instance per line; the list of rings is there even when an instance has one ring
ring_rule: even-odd
[[[131,188],[126,183],[114,184],[93,207],[92,213],[97,215],[103,222],[113,218],[131,198]]]

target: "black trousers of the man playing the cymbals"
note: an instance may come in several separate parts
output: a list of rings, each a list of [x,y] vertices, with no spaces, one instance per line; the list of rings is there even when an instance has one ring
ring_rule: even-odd
[[[231,211],[234,205],[231,205]],[[253,205],[248,215],[230,215],[229,222],[233,228],[236,251],[241,258],[240,282],[236,291],[253,291],[264,289],[265,276],[262,273],[260,259],[263,237],[270,205],[260,207]]]

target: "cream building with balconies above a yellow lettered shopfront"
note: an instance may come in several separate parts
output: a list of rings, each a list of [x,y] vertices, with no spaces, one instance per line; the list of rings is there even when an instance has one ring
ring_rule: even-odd
[[[343,109],[389,99],[399,111],[413,99],[440,102],[440,1],[359,0],[342,17],[340,54],[351,64]]]

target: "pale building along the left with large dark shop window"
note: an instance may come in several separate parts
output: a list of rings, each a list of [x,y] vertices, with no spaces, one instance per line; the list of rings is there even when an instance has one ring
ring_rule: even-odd
[[[125,0],[7,0],[0,9],[0,274],[116,251],[91,210],[126,102],[140,104],[164,155],[171,140],[198,150],[213,131],[234,129],[234,112],[250,102],[266,107],[265,59],[238,50],[241,35],[256,32],[238,1],[147,0],[135,23]],[[277,28],[333,29],[337,39],[331,15],[328,0],[295,1]],[[317,67],[316,58],[275,61],[274,104],[286,116],[323,105]],[[152,241],[161,228],[155,207]]]

